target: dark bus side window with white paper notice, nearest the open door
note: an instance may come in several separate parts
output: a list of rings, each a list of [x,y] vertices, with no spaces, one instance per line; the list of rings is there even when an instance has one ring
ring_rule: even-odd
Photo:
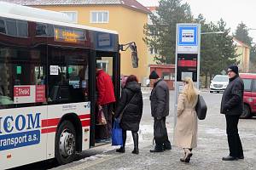
[[[89,51],[79,48],[49,46],[48,101],[76,103],[89,100],[88,59]],[[58,72],[56,67],[58,66]],[[55,68],[52,71],[51,68]],[[54,72],[55,71],[55,72]],[[52,74],[52,73],[55,74]],[[55,86],[58,86],[56,88]]]

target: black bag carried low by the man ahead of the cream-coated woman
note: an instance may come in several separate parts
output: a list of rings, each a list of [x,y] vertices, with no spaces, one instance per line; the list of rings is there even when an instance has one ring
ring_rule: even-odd
[[[154,141],[156,143],[162,143],[164,142],[164,137],[167,133],[166,130],[166,123],[164,122],[163,119],[154,120]]]

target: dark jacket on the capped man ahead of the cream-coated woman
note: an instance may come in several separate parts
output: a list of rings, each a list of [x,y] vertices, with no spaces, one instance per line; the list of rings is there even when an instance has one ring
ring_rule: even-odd
[[[150,95],[151,115],[164,117],[169,115],[169,88],[164,80],[154,83]]]

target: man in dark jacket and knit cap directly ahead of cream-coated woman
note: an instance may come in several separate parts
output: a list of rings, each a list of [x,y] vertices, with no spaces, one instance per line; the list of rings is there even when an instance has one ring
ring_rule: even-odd
[[[162,152],[164,150],[172,150],[171,142],[168,139],[166,130],[166,116],[169,115],[169,88],[167,83],[160,79],[155,71],[149,75],[149,79],[154,82],[154,88],[150,95],[151,115],[154,117],[154,131],[156,126],[160,125],[160,121],[165,124],[164,136],[162,139],[155,139],[154,150],[150,152]]]

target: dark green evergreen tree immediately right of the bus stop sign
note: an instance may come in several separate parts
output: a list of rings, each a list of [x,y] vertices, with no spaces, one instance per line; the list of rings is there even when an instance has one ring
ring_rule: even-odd
[[[236,46],[233,44],[233,37],[230,37],[230,29],[226,28],[224,20],[219,20],[215,25],[207,23],[200,14],[197,23],[201,24],[201,32],[212,32],[201,35],[201,76],[205,76],[205,85],[208,87],[210,79],[221,71],[226,70],[230,64],[236,64]],[[222,31],[222,34],[213,32]]]

